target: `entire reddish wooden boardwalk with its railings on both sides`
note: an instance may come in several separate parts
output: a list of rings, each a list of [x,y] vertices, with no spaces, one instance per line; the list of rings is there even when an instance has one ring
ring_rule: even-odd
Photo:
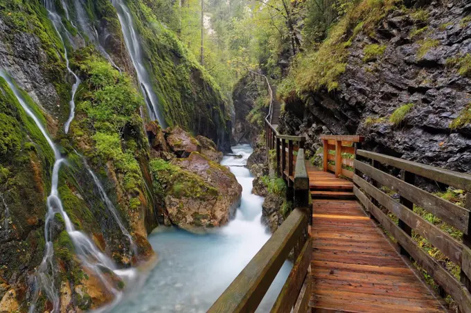
[[[265,80],[273,99],[267,78],[252,75]],[[208,312],[254,312],[291,251],[295,262],[271,312],[447,312],[447,296],[471,312],[471,175],[362,150],[361,136],[322,136],[323,168],[314,168],[305,138],[278,134],[278,105],[272,100],[265,119],[266,144],[276,151],[294,211]],[[465,208],[416,186],[416,177],[464,190]],[[463,240],[414,205],[463,232]],[[412,231],[458,265],[459,278]]]

